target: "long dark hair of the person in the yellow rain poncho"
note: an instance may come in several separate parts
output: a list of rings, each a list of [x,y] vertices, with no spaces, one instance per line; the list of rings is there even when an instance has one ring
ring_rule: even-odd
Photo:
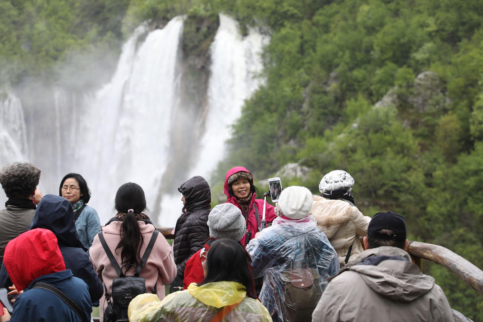
[[[236,281],[245,286],[247,296],[257,298],[250,264],[252,260],[239,242],[228,238],[215,240],[206,260],[208,274],[198,286],[222,280]]]

